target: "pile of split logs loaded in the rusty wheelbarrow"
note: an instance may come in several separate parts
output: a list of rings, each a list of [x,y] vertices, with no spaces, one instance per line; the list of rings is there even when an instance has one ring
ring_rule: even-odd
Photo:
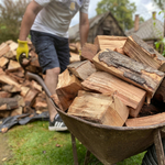
[[[63,110],[114,127],[165,122],[165,58],[136,35],[97,36],[59,76]]]

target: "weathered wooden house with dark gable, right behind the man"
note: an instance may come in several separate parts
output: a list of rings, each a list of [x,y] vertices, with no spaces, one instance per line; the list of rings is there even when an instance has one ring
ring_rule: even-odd
[[[97,35],[116,35],[125,36],[123,30],[118,24],[118,21],[111,14],[107,12],[95,18],[89,19],[89,33],[88,43],[94,43]],[[69,29],[69,42],[78,42],[79,38],[79,24],[76,24]]]

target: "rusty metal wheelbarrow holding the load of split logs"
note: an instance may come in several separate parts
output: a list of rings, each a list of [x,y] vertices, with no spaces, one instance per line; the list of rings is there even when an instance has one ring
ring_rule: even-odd
[[[87,155],[89,155],[89,152],[92,153],[105,165],[112,165],[144,152],[154,143],[157,163],[158,165],[165,165],[162,144],[162,138],[165,136],[165,123],[127,128],[101,125],[85,121],[62,111],[51,98],[51,92],[41,77],[31,73],[28,73],[26,76],[35,79],[43,87],[70,131],[75,165],[78,165],[75,138],[88,150]],[[87,158],[88,156],[86,156]]]

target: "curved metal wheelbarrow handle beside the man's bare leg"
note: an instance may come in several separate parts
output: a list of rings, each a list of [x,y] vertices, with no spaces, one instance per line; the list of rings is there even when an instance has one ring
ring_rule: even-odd
[[[55,108],[57,111],[61,110],[61,109],[58,108],[58,106],[55,103],[55,101],[53,100],[53,98],[51,97],[51,96],[52,96],[51,91],[48,90],[48,88],[46,87],[44,80],[43,80],[40,76],[28,72],[26,75],[25,75],[25,77],[28,77],[29,79],[34,79],[34,80],[36,80],[36,81],[43,87],[44,91],[46,92],[46,95],[47,95],[47,97],[50,98],[51,102],[53,103],[54,108]]]

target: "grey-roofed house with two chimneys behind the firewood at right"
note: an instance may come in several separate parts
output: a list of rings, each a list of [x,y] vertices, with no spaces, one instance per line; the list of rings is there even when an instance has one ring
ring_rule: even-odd
[[[140,24],[140,18],[136,14],[134,21],[134,28],[125,32],[127,36],[136,34],[148,45],[154,47],[154,43],[164,35],[164,23],[156,19],[156,12],[150,20]]]

